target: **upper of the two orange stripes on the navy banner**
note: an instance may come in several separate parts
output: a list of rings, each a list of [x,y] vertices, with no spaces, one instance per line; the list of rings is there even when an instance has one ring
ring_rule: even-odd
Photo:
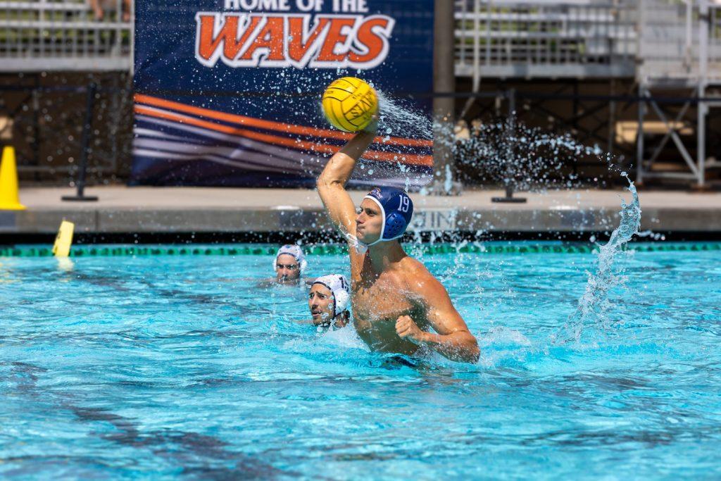
[[[240,123],[249,127],[266,128],[270,131],[283,131],[288,133],[297,133],[301,136],[317,136],[337,138],[338,140],[348,140],[350,133],[331,131],[327,128],[306,127],[304,125],[293,125],[281,122],[273,122],[272,120],[262,120],[260,118],[245,117],[244,115],[235,115],[218,110],[210,110],[203,107],[193,107],[193,105],[181,104],[180,102],[172,102],[171,100],[159,99],[158,97],[150,97],[149,95],[135,94],[135,101],[143,104],[154,105],[155,107],[164,107],[180,112],[202,115],[203,117],[213,118],[216,120],[224,120],[225,122]],[[373,139],[379,144],[397,144],[409,147],[431,147],[433,141],[427,141],[417,138],[401,138],[390,137],[386,142],[383,137],[378,136]]]

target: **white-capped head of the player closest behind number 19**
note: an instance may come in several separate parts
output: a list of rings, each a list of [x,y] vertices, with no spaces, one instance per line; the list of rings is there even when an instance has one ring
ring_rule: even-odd
[[[350,286],[345,275],[329,274],[317,278],[308,293],[308,308],[313,324],[345,327],[350,322]]]

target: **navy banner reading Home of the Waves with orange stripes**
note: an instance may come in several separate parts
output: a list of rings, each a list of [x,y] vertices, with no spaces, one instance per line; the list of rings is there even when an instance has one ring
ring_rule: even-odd
[[[432,133],[403,112],[430,115],[408,94],[433,88],[433,0],[140,0],[135,45],[133,184],[314,185],[350,135],[320,110],[341,76],[381,94],[353,182],[430,178]]]

